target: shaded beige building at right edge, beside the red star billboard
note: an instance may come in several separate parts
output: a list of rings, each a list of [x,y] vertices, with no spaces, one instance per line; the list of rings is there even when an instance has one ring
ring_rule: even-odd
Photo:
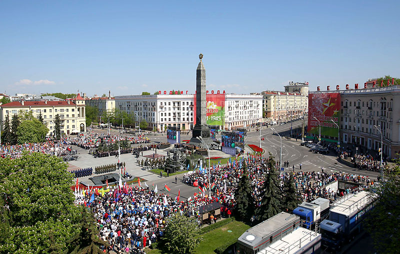
[[[400,85],[313,93],[335,92],[340,93],[340,142],[378,151],[381,135],[374,125],[379,125],[383,136],[383,156],[398,158]]]

